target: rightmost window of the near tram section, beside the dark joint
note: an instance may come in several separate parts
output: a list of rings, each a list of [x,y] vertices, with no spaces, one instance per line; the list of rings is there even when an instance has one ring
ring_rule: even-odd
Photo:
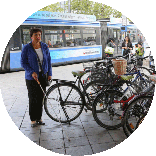
[[[83,30],[83,46],[96,45],[96,30],[94,28],[85,28]]]

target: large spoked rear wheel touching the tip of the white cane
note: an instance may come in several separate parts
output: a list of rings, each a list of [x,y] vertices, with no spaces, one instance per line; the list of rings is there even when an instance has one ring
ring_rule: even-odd
[[[83,94],[71,83],[58,83],[51,86],[44,97],[45,111],[56,122],[67,123],[75,120],[82,113],[84,104]]]

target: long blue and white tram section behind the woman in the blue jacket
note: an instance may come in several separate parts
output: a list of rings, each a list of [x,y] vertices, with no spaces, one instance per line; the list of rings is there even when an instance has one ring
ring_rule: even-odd
[[[14,32],[4,52],[0,72],[23,70],[20,64],[22,47],[31,41],[32,27],[42,30],[52,65],[65,65],[102,58],[100,22],[94,15],[37,11]]]

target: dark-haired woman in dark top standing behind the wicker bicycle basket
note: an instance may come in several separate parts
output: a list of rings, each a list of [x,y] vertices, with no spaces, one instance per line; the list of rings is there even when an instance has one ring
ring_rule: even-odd
[[[125,41],[122,43],[122,49],[124,49],[123,56],[127,55],[128,53],[130,53],[130,50],[133,49],[132,43],[131,43],[130,38],[128,36],[126,36]]]

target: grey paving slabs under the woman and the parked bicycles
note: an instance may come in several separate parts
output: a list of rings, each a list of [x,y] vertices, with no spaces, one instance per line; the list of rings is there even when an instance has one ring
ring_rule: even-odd
[[[53,78],[75,80],[72,70],[82,70],[82,64],[53,67]],[[72,156],[92,155],[126,139],[122,128],[108,131],[98,126],[91,111],[83,111],[71,125],[63,124],[63,129],[43,111],[46,125],[31,128],[25,71],[0,74],[0,89],[6,110],[19,131],[45,149]]]

